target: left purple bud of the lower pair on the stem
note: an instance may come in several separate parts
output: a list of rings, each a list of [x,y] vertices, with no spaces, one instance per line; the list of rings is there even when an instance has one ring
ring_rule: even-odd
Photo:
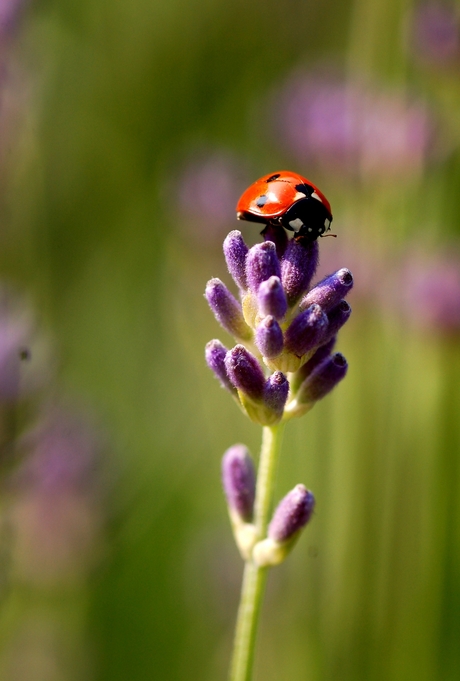
[[[256,491],[254,464],[244,445],[227,449],[222,459],[222,483],[227,504],[245,522],[251,522]]]

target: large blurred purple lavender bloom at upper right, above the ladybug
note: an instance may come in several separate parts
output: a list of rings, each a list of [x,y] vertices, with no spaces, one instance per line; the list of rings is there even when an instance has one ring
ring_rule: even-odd
[[[277,137],[299,161],[327,173],[407,182],[432,150],[426,105],[402,91],[296,73],[274,99]]]

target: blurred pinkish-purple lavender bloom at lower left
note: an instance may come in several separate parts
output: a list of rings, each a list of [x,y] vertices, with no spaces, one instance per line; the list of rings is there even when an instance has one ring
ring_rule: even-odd
[[[14,475],[14,568],[38,586],[80,582],[99,555],[101,437],[87,418],[53,407],[21,440]]]

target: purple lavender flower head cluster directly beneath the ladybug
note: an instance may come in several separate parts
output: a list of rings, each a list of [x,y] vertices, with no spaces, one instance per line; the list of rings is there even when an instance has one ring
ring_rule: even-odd
[[[265,241],[248,248],[239,231],[224,241],[228,270],[239,298],[219,279],[206,300],[220,325],[236,340],[206,347],[206,361],[220,383],[256,423],[273,425],[300,416],[342,380],[343,355],[331,354],[351,308],[353,286],[342,268],[310,288],[318,242],[287,240],[282,228],[265,230]]]

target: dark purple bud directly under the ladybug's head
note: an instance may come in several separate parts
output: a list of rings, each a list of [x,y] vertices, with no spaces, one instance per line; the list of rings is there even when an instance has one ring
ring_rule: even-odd
[[[318,267],[318,260],[317,241],[302,245],[291,239],[281,260],[281,281],[290,305],[293,305],[310,286]]]

